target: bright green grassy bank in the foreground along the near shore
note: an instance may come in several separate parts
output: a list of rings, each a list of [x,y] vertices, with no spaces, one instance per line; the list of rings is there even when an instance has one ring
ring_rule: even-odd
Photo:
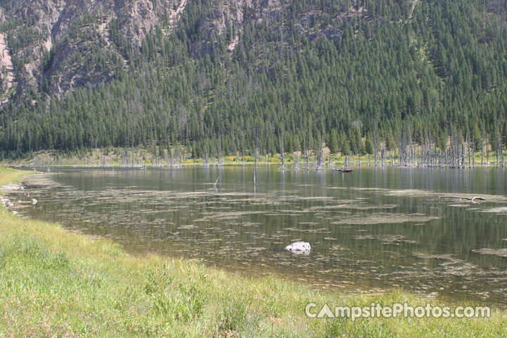
[[[0,187],[26,172],[0,167]],[[1,189],[1,188],[0,188]],[[3,194],[3,192],[1,192]],[[507,312],[487,319],[307,318],[322,306],[449,306],[392,290],[320,292],[274,277],[243,277],[196,261],[142,257],[0,208],[1,337],[505,337]]]

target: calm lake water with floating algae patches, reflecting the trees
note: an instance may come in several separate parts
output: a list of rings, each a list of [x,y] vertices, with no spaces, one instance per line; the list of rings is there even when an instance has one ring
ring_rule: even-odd
[[[401,287],[506,306],[504,195],[507,172],[494,168],[343,174],[272,165],[258,169],[255,186],[251,167],[69,170],[30,177],[15,199],[22,215],[111,238],[132,253],[320,289]],[[310,254],[283,249],[299,240],[310,242]]]

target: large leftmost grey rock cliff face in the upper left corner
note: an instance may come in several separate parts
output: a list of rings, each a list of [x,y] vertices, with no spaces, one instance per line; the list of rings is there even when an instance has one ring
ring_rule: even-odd
[[[96,86],[126,68],[111,22],[122,41],[140,46],[157,25],[171,30],[187,0],[11,0],[0,4],[0,27],[7,46],[0,66],[4,99],[7,83],[17,94],[36,90],[63,94],[82,85]],[[99,57],[100,56],[100,57]],[[95,60],[96,58],[96,60]],[[90,62],[83,62],[85,59]],[[13,63],[10,67],[9,64]],[[89,65],[94,62],[94,66]],[[9,81],[9,76],[15,79]]]

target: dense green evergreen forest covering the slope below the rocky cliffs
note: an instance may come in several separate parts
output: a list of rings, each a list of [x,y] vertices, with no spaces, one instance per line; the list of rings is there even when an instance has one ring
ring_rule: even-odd
[[[323,142],[342,154],[397,149],[403,156],[412,144],[505,149],[504,6],[291,0],[270,23],[245,9],[240,32],[229,26],[210,39],[198,27],[214,12],[204,0],[189,1],[172,34],[157,27],[140,47],[126,42],[113,19],[111,40],[127,67],[104,61],[111,57],[101,49],[77,55],[114,70],[113,80],[61,98],[42,84],[4,106],[0,158],[175,145],[206,158],[316,151]],[[310,11],[322,15],[301,32],[296,18]],[[227,42],[236,35],[231,51]],[[18,40],[11,45],[23,44]]]

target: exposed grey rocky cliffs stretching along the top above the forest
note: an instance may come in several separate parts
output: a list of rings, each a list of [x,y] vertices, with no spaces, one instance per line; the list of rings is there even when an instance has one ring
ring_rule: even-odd
[[[241,44],[247,23],[253,26],[250,32],[262,30],[264,25],[274,26],[281,41],[296,33],[310,40],[325,37],[337,42],[342,37],[337,27],[344,20],[352,21],[358,15],[367,14],[356,1],[334,1],[332,8],[296,2],[0,1],[1,101],[13,96],[30,96],[30,92],[43,97],[62,96],[76,87],[96,87],[115,78],[129,70],[126,56],[139,51],[147,33],[157,28],[163,35],[173,34],[185,11],[189,11],[189,5],[205,9],[199,12],[198,18],[194,18],[194,12],[187,15],[187,21],[194,20],[193,37],[189,37],[189,49],[194,58],[213,54],[216,48],[232,53]],[[284,23],[287,12],[295,16],[296,25],[289,27]],[[315,25],[316,22],[319,24]],[[1,47],[2,38],[6,40],[4,48]],[[218,40],[223,46],[217,46]]]

